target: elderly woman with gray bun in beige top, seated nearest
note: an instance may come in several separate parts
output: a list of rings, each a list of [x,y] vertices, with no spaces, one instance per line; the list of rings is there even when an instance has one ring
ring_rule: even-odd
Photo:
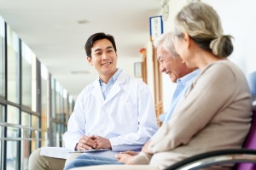
[[[206,3],[183,7],[175,18],[173,41],[186,65],[201,74],[172,119],[126,162],[129,166],[83,169],[163,169],[202,152],[241,148],[251,125],[251,95],[243,72],[227,59],[233,45],[231,37],[223,35],[218,14]]]

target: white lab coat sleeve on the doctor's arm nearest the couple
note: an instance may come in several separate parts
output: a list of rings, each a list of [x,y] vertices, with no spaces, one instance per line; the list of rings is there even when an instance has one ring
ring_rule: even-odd
[[[138,113],[137,117],[134,117],[138,125],[137,132],[109,139],[113,151],[141,150],[143,144],[148,142],[158,129],[153,98],[148,86],[141,82],[135,95],[138,99]]]

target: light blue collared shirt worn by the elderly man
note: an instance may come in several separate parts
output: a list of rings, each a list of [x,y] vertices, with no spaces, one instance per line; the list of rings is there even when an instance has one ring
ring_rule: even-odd
[[[188,75],[177,79],[177,87],[172,96],[172,105],[169,108],[169,110],[166,112],[166,117],[165,117],[165,120],[163,123],[168,122],[170,120],[177,103],[186,94],[191,83],[195,80],[195,77],[197,77],[199,75],[199,73],[200,73],[200,70],[197,69],[197,70],[189,73]]]

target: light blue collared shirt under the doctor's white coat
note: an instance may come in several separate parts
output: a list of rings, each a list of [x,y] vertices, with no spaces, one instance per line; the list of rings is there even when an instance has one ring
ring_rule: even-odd
[[[102,88],[102,94],[103,94],[103,98],[106,99],[111,88],[113,87],[113,83],[117,80],[117,78],[119,77],[119,74],[122,70],[118,69],[113,76],[109,79],[108,83],[106,84],[105,82],[102,82],[101,78],[99,78],[99,82]]]

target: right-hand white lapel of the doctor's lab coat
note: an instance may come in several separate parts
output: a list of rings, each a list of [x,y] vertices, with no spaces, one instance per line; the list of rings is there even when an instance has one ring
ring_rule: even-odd
[[[108,101],[113,99],[116,94],[119,94],[119,92],[121,91],[120,84],[125,82],[125,77],[126,77],[126,75],[124,75],[123,72],[121,72],[118,79],[116,80],[116,82],[114,82],[113,87],[111,88],[103,105],[107,104]]]

